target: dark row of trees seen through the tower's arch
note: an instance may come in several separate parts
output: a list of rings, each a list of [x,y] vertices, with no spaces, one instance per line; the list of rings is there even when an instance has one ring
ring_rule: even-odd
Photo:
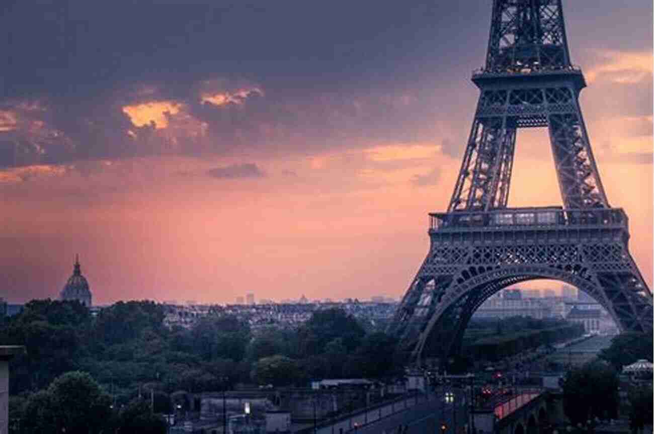
[[[501,324],[498,327],[501,327]],[[494,335],[482,337],[468,344],[464,351],[473,359],[498,361],[539,346],[547,346],[563,339],[581,336],[584,333],[584,328],[583,324],[568,323],[506,333],[500,328],[499,331],[500,333],[496,332]]]

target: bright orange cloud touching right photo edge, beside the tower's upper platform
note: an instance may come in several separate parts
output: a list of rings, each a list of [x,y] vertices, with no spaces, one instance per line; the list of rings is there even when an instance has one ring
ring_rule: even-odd
[[[651,52],[606,51],[601,56],[603,61],[585,74],[589,83],[599,76],[608,75],[611,82],[634,84],[652,75],[654,58]]]

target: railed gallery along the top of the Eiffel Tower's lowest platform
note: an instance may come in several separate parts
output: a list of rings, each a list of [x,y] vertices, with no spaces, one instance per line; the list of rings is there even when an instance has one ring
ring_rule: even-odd
[[[555,227],[620,225],[627,227],[628,218],[621,208],[562,209],[508,208],[489,212],[432,212],[432,231],[465,227]]]

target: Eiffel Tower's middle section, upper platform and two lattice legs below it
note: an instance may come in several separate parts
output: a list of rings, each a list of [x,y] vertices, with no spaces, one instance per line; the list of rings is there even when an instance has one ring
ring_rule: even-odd
[[[579,75],[565,71],[523,76],[517,83],[477,77],[482,92],[450,212],[506,208],[516,130],[527,127],[549,128],[566,208],[609,206],[577,101]]]

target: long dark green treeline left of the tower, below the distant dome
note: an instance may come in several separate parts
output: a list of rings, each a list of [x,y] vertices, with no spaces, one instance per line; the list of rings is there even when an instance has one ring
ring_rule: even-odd
[[[137,390],[209,392],[237,383],[303,386],[315,378],[383,378],[401,372],[395,340],[368,332],[340,309],[298,329],[252,333],[215,312],[191,329],[163,325],[163,307],[118,302],[94,318],[77,302],[35,300],[5,320],[0,341],[25,345],[11,362],[12,393],[36,392],[68,371],[89,373],[114,400]]]

